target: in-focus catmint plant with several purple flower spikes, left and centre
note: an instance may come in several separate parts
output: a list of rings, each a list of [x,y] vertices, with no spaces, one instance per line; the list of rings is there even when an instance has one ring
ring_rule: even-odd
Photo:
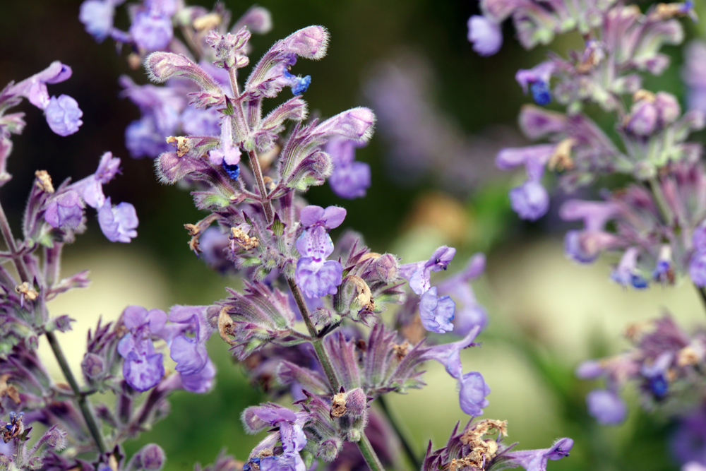
[[[145,0],[127,5],[131,24],[124,31],[113,23],[121,4],[85,0],[79,19],[97,41],[111,38],[131,47],[128,64],[143,64],[152,82],[165,84],[120,78],[124,95],[142,114],[126,130],[128,148],[133,157],[155,159],[163,184],[193,189],[204,217],[185,225],[189,249],[216,270],[237,274],[243,287],[228,288],[207,306],[177,305],[168,313],[127,306],[118,321],[98,321],[88,334],[80,386],[56,336],[71,329],[71,318],[50,316],[47,302],[86,287],[88,274],[61,278],[61,251],[85,230],[86,206],[111,242],[136,237],[138,216],[131,204],[114,204],[103,191],[120,172],[112,153],[102,155],[94,174],[56,188],[38,170],[20,232],[12,232],[0,206],[7,247],[0,256],[14,268],[0,266],[0,414],[8,419],[1,423],[0,469],[161,469],[166,457],[160,446],[148,444],[127,457],[121,443],[167,414],[172,391],[213,387],[215,367],[205,342],[216,331],[251,380],[270,381],[268,393],[280,399],[242,412],[246,431],[267,431],[244,457],[244,471],[304,471],[315,461],[325,469],[381,471],[393,464],[397,440],[410,463],[424,470],[545,470],[548,460],[567,456],[571,439],[515,451],[502,443],[506,422],[475,420],[489,405],[491,389],[481,372],[464,371],[460,351],[479,345],[475,340],[488,322],[469,285],[483,272],[484,256],[438,279],[452,266],[454,248],[441,246],[424,260],[401,263],[393,254],[371,251],[356,232],[334,242],[330,232],[345,223],[345,208],[304,200],[303,193],[327,179],[344,198],[364,196],[370,185],[369,167],[355,162],[354,148],[370,140],[373,111],[357,107],[308,119],[303,94],[312,78],[295,75],[306,70],[298,59],[325,56],[328,31],[314,25],[278,40],[245,78],[239,71],[250,63],[251,32],[270,29],[263,8],[251,8],[231,25],[222,4],[208,11],[177,0]],[[76,101],[47,93],[47,83],[70,74],[55,62],[0,94],[0,186],[10,178],[11,133],[24,126],[22,114],[6,110],[22,97],[44,110],[52,131],[78,130]],[[285,88],[292,97],[265,112],[265,98]],[[383,320],[394,304],[399,307]],[[37,357],[40,335],[68,388],[54,383]],[[167,355],[174,371],[164,367]],[[421,367],[430,360],[458,381],[460,409],[472,418],[460,432],[457,424],[440,450],[432,452],[430,443],[421,459],[386,412],[384,395],[423,387]],[[114,405],[95,393],[111,393]],[[291,403],[282,399],[287,394]],[[34,422],[47,431],[29,448]],[[494,433],[497,438],[489,438]],[[234,461],[221,455],[206,469],[233,468]]]

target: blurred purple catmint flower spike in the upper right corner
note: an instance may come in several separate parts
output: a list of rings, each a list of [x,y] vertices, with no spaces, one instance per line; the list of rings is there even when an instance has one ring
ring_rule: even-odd
[[[527,180],[510,191],[510,205],[523,219],[537,220],[549,210],[545,170],[557,174],[564,191],[587,186],[599,177],[624,174],[634,180],[624,189],[605,191],[603,201],[571,200],[563,204],[563,220],[584,222],[582,230],[566,234],[566,253],[591,263],[602,251],[618,251],[621,262],[611,278],[624,286],[644,288],[650,279],[674,283],[689,273],[699,286],[706,282],[700,268],[702,251],[695,240],[703,220],[700,184],[704,169],[701,146],[687,143],[691,131],[704,127],[704,114],[694,107],[682,114],[676,97],[642,89],[642,73],[659,74],[669,66],[660,52],[664,44],[679,44],[683,29],[676,19],[694,16],[693,4],[659,4],[641,13],[637,6],[590,2],[580,11],[563,1],[481,1],[483,17],[474,17],[472,36],[481,52],[494,52],[497,26],[512,17],[520,42],[527,48],[546,44],[554,35],[577,30],[585,48],[568,59],[549,60],[515,78],[537,105],[556,100],[566,113],[525,105],[520,128],[532,140],[549,143],[506,148],[496,157],[501,169],[525,167]],[[698,54],[693,49],[692,55]],[[690,64],[695,64],[693,61]],[[698,68],[686,77],[698,90]],[[697,93],[698,94],[698,93]],[[627,108],[623,102],[631,97]],[[619,142],[609,137],[582,110],[598,105],[612,113]],[[606,229],[613,225],[616,230]]]

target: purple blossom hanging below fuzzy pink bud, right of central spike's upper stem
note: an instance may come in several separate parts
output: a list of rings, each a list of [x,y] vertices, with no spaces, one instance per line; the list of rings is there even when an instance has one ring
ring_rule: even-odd
[[[357,147],[361,145],[342,137],[329,139],[325,146],[333,161],[333,173],[328,178],[328,184],[341,198],[361,198],[370,186],[370,165],[355,162]]]

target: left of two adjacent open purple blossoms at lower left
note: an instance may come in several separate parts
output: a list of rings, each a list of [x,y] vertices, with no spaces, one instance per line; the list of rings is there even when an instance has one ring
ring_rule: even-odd
[[[164,335],[167,314],[160,309],[128,306],[123,322],[129,332],[118,343],[118,352],[125,359],[125,381],[138,391],[153,388],[164,376],[164,363],[162,354],[155,352],[152,335]]]

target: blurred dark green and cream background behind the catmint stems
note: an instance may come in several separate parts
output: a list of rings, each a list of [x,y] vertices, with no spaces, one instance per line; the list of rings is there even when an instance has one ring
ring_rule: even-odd
[[[189,3],[212,6],[204,0]],[[250,6],[246,1],[225,3],[235,18]],[[71,292],[51,306],[54,314],[78,319],[73,332],[62,338],[75,369],[85,330],[95,326],[98,316],[113,320],[128,304],[148,309],[209,304],[223,297],[226,285],[239,285],[211,272],[189,252],[183,225],[201,215],[188,191],[160,186],[150,160],[128,157],[124,129],[139,112],[119,96],[117,78],[123,73],[138,83],[146,78],[143,71],[128,68],[126,51],[116,54],[110,41],[95,44],[78,21],[79,5],[80,0],[0,4],[0,83],[19,81],[58,59],[73,68],[73,77],[49,91],[75,97],[84,121],[78,133],[62,138],[49,130],[37,109],[23,103],[28,126],[13,139],[8,163],[13,180],[0,196],[11,222],[19,223],[35,169],[47,169],[54,181],[80,179],[95,170],[105,150],[123,159],[122,175],[107,186],[107,195],[133,203],[140,217],[139,237],[129,245],[103,239],[94,218],[80,243],[66,251],[64,273],[90,268],[93,280],[91,290]],[[537,64],[546,49],[525,52],[506,24],[499,54],[489,58],[475,54],[466,40],[467,18],[477,13],[474,0],[271,0],[261,5],[272,13],[274,29],[253,36],[251,63],[294,30],[311,24],[330,30],[328,56],[296,66],[297,73],[312,77],[306,92],[312,112],[326,117],[358,105],[374,109],[364,90],[385,64],[397,64],[403,74],[423,72],[426,98],[443,114],[443,127],[468,143],[462,163],[472,175],[455,174],[451,167],[440,177],[436,160],[421,175],[407,178],[404,159],[390,160],[390,142],[378,132],[368,147],[357,152],[357,158],[372,167],[373,186],[365,198],[342,200],[328,185],[312,189],[307,198],[313,204],[345,206],[346,227],[364,233],[374,251],[390,251],[408,262],[426,258],[441,244],[459,249],[455,269],[464,266],[474,251],[486,252],[486,275],[474,289],[489,311],[490,326],[481,335],[481,348],[463,352],[465,369],[481,371],[493,389],[485,417],[508,419],[510,440],[519,441],[520,448],[546,448],[559,436],[575,439],[571,458],[552,462],[552,470],[677,469],[666,446],[669,422],[640,412],[633,394],[626,424],[599,426],[585,408],[585,394],[594,385],[576,380],[573,369],[582,359],[625,348],[621,332],[628,322],[653,318],[663,310],[687,327],[701,321],[702,306],[693,288],[626,292],[607,280],[609,263],[614,261],[602,260],[590,268],[573,265],[563,258],[561,234],[566,227],[558,221],[556,209],[537,223],[520,222],[510,212],[506,196],[513,177],[493,171],[497,150],[493,146],[523,142],[515,122],[528,99],[515,83],[515,71]],[[642,8],[647,6],[642,2]],[[123,16],[116,25],[126,28],[125,9],[119,11]],[[688,36],[700,35],[702,27],[687,24]],[[552,49],[564,53],[579,41],[560,37]],[[648,78],[645,85],[681,98],[681,49],[671,47],[667,52],[673,59],[671,68]],[[417,68],[405,68],[410,64]],[[611,117],[591,112],[611,129]],[[448,144],[434,143],[442,163]],[[464,178],[469,184],[455,181]],[[223,447],[237,458],[246,457],[260,437],[244,434],[239,415],[244,407],[263,400],[263,393],[247,383],[220,339],[211,340],[210,355],[219,369],[217,387],[205,397],[175,393],[172,414],[140,439],[126,443],[128,453],[143,443],[159,443],[169,457],[169,470],[188,470],[197,461],[210,463]],[[392,400],[420,453],[429,439],[441,446],[455,422],[468,419],[457,405],[453,380],[441,367],[429,365],[426,381],[429,386],[424,390]]]

